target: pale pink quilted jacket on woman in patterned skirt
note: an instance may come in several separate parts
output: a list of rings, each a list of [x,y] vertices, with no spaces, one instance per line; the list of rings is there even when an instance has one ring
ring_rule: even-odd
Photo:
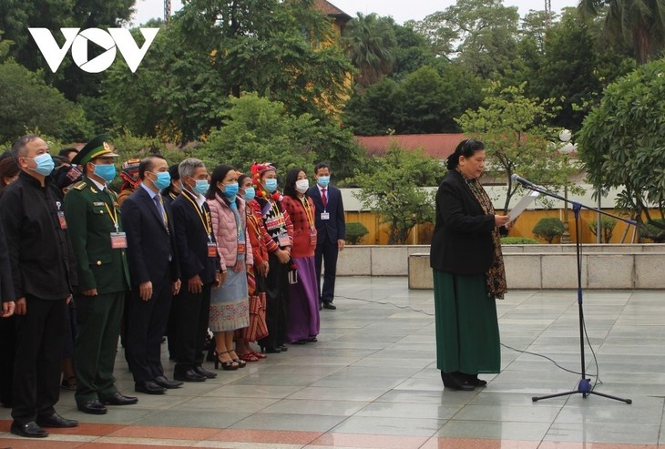
[[[251,254],[250,237],[247,233],[245,201],[238,199],[238,203],[240,223],[245,233],[245,263],[253,265],[254,257]],[[221,269],[227,270],[227,267],[233,268],[236,264],[238,252],[238,230],[233,210],[230,209],[219,195],[215,195],[215,199],[208,199],[208,206],[210,207],[212,231],[215,233],[215,239],[217,240],[217,250],[220,251]]]

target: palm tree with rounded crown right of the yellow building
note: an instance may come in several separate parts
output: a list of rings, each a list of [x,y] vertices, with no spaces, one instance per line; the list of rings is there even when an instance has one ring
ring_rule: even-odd
[[[392,19],[358,13],[346,25],[342,39],[361,87],[371,86],[392,70],[397,46]]]

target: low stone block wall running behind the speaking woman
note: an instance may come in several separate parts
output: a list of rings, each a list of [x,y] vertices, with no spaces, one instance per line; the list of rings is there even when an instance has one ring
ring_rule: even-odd
[[[578,286],[575,245],[503,247],[510,289],[573,289]],[[431,289],[429,246],[347,246],[340,276],[408,276],[409,288]],[[582,287],[665,289],[665,245],[582,246]]]

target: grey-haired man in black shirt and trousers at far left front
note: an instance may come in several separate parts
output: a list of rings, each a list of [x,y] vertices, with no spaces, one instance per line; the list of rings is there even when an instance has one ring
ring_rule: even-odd
[[[44,427],[74,427],[56,413],[65,345],[67,299],[77,283],[76,258],[51,182],[53,158],[35,135],[12,147],[21,169],[0,199],[15,296],[15,364],[11,433],[46,437]],[[7,306],[10,307],[10,306]]]

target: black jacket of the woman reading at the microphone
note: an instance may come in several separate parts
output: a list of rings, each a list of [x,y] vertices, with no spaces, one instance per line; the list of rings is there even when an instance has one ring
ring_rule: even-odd
[[[436,191],[430,266],[458,274],[484,273],[494,260],[494,215],[486,215],[462,175],[448,171]]]

